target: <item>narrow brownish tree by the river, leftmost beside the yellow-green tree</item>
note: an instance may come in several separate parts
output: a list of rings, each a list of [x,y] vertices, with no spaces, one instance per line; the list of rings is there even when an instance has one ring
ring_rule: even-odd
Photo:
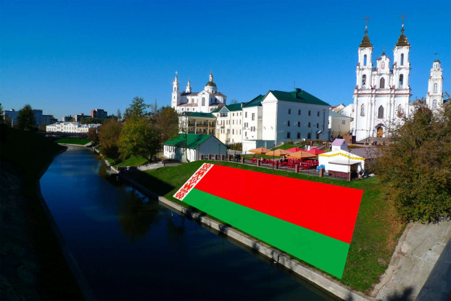
[[[98,141],[101,145],[101,153],[107,158],[117,161],[120,158],[119,138],[122,123],[115,119],[109,119],[98,130]]]

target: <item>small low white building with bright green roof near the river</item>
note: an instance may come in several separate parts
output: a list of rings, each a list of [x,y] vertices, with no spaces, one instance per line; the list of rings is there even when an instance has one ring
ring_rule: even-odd
[[[213,135],[179,134],[163,143],[163,155],[172,160],[193,162],[209,154],[227,155],[227,147]]]

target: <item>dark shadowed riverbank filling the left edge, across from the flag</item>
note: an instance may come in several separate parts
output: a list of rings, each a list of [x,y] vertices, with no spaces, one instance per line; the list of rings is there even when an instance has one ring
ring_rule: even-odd
[[[65,147],[9,127],[1,133],[1,277],[5,300],[84,300],[39,199],[39,178]]]

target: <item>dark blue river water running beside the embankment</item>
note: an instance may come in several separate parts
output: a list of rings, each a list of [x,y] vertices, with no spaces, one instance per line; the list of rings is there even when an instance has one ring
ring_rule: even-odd
[[[69,147],[41,192],[98,300],[331,300],[272,260],[106,175]]]

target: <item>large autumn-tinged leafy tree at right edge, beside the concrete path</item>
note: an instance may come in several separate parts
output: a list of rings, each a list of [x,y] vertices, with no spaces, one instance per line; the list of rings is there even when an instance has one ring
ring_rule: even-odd
[[[392,132],[375,172],[405,220],[434,222],[451,216],[451,105],[432,112],[417,101]]]

